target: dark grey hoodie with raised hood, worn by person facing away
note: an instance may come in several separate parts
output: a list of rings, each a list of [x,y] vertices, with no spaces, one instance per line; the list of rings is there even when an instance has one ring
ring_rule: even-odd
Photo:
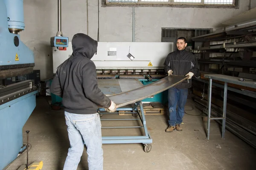
[[[96,67],[90,59],[97,51],[98,42],[85,34],[72,39],[73,54],[56,71],[51,93],[63,98],[65,111],[93,114],[98,107],[108,108],[111,100],[98,88]]]

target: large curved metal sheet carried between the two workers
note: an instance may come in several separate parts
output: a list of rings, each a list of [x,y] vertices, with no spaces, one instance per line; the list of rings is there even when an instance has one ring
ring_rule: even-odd
[[[161,93],[162,91],[165,91],[179,84],[180,82],[183,82],[187,78],[188,77],[185,76],[168,76],[143,87],[124,93],[115,94],[109,98],[116,103],[117,108],[120,108],[122,106],[129,105],[155,94]]]

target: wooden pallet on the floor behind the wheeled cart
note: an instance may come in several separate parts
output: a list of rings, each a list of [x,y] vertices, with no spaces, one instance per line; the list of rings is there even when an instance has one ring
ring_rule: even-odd
[[[140,111],[140,107],[138,108]],[[143,111],[145,115],[163,115],[166,114],[166,107],[158,102],[143,103]],[[131,111],[119,111],[119,115],[132,115]]]

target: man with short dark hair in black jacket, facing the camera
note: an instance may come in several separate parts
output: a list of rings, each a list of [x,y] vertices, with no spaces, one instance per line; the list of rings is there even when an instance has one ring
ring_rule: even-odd
[[[198,61],[192,53],[186,51],[186,45],[186,38],[178,38],[177,51],[168,54],[164,62],[164,68],[168,76],[182,75],[189,77],[188,81],[183,81],[168,90],[169,127],[166,129],[166,132],[172,132],[175,129],[178,131],[182,130],[180,124],[184,116],[188,88],[192,85],[192,76],[198,74]]]

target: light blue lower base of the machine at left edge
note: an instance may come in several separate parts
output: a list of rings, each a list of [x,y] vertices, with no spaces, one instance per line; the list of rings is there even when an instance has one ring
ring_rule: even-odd
[[[0,105],[0,170],[17,158],[23,146],[22,128],[35,109],[36,93]]]

